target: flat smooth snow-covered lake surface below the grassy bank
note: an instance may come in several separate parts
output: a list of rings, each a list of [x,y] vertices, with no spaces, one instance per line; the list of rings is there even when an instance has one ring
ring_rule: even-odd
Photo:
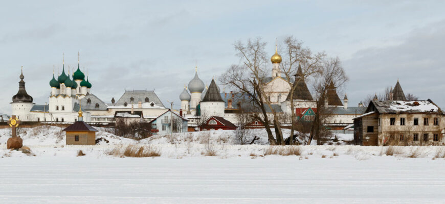
[[[6,157],[0,203],[445,203],[445,160]]]

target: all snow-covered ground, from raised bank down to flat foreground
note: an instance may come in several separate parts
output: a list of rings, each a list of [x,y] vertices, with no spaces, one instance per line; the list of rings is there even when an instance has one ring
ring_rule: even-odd
[[[0,203],[445,203],[441,147],[396,147],[393,156],[388,147],[270,147],[256,131],[254,145],[235,145],[230,131],[140,141],[100,131],[108,143],[66,146],[59,127],[36,127],[20,130],[26,155],[5,149],[1,129]],[[110,154],[129,144],[160,157]],[[216,156],[205,156],[210,147]]]

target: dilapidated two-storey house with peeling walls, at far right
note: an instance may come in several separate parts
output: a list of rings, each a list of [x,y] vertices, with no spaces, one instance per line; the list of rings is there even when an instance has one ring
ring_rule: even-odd
[[[400,97],[402,94],[394,98],[402,99]],[[445,121],[442,110],[430,99],[404,99],[370,101],[365,114],[354,118],[354,143],[444,145]]]

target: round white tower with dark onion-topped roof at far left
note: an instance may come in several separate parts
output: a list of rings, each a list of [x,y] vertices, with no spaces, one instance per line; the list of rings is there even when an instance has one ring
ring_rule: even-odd
[[[25,79],[23,75],[23,66],[21,67],[20,82],[18,82],[18,92],[12,96],[12,115],[15,115],[17,119],[21,121],[32,121],[30,117],[31,108],[34,106],[32,103],[33,98],[26,92]]]

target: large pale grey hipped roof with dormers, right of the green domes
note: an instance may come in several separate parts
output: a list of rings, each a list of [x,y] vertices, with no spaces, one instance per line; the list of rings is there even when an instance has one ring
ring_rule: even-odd
[[[133,97],[133,101],[130,98]],[[145,103],[145,98],[148,98],[149,102],[153,102],[155,105],[165,108],[164,104],[162,104],[158,95],[154,93],[154,91],[146,91],[146,90],[132,90],[125,91],[125,93],[119,98],[115,106],[123,106],[126,102],[127,104],[138,104],[139,101]]]

